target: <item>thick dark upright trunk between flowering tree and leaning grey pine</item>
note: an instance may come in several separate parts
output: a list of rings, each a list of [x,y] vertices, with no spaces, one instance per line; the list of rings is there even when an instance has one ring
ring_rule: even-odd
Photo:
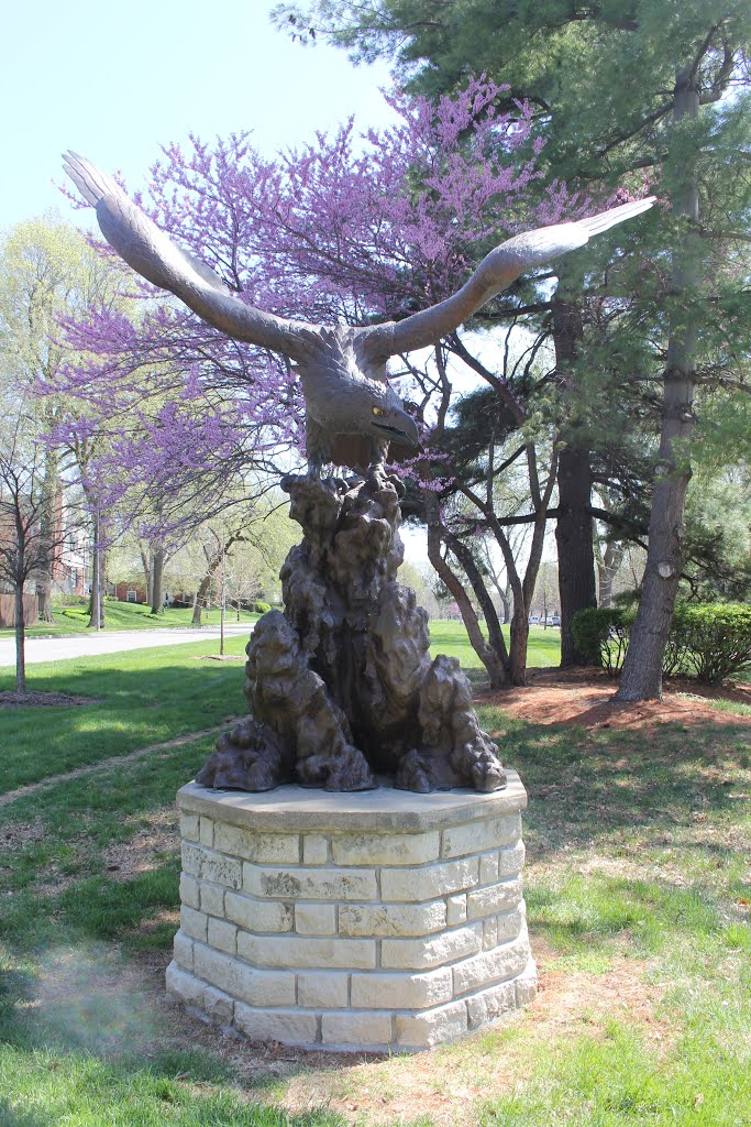
[[[571,383],[576,344],[583,335],[581,309],[553,298],[553,343],[555,365],[564,396]],[[565,433],[563,434],[565,438]],[[555,542],[558,549],[558,593],[561,597],[561,667],[585,665],[588,658],[574,644],[571,622],[576,611],[597,606],[594,583],[594,532],[591,516],[592,471],[589,451],[570,438],[558,458],[558,518]]]

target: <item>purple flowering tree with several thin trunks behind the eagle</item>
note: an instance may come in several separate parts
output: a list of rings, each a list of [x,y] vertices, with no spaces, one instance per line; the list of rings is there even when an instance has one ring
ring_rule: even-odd
[[[500,92],[481,79],[436,106],[395,97],[400,119],[393,127],[359,139],[350,121],[272,161],[245,135],[213,147],[193,139],[186,152],[164,150],[138,203],[257,308],[329,323],[399,319],[455,293],[500,238],[583,210],[563,186],[543,189],[537,183],[540,144],[533,115],[522,104],[498,114]],[[91,469],[107,482],[100,495],[109,506],[129,506],[133,515],[147,509],[157,535],[217,512],[227,479],[247,476],[249,467],[278,465],[281,453],[302,449],[304,427],[297,376],[287,362],[223,336],[170,299],[154,302],[145,283],[142,293],[137,317],[102,310],[68,326],[70,341],[92,361],[66,373],[66,391],[79,408],[72,425],[108,435],[106,453]],[[504,301],[529,309],[534,293],[521,285]],[[536,352],[533,346],[531,360]],[[485,482],[479,491],[453,470],[446,443],[454,399],[449,357],[480,376],[502,405],[512,423],[504,441],[528,421],[530,364],[519,379],[502,362],[493,370],[456,331],[428,362],[417,354],[415,363],[412,354],[401,370],[402,390],[418,401],[426,445],[403,472],[413,481],[413,511],[428,524],[431,561],[459,602],[493,684],[524,683],[527,607],[555,450],[540,467],[534,437],[516,443],[513,460],[528,467],[534,532],[524,578],[513,573],[509,653],[466,547],[467,527],[481,521],[508,554],[493,489]],[[491,482],[511,464],[500,437],[479,453],[477,464]],[[450,503],[458,492],[464,508]],[[467,516],[467,505],[474,516]],[[490,642],[461,571],[481,602]]]

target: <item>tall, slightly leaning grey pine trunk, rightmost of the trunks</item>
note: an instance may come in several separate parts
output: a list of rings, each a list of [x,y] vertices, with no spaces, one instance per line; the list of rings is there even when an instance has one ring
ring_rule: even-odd
[[[699,89],[692,68],[679,71],[676,80],[673,121],[696,118]],[[694,429],[696,319],[690,298],[700,277],[701,248],[696,227],[699,192],[696,163],[673,153],[673,175],[682,171],[682,183],[673,195],[673,213],[691,221],[681,230],[680,247],[673,252],[673,296],[670,312],[668,366],[664,376],[662,433],[650,513],[650,542],[642,597],[631,631],[620,687],[616,699],[641,701],[662,699],[662,662],[676,606],[683,564],[683,513],[691,477],[689,442]],[[682,300],[681,300],[682,299]]]

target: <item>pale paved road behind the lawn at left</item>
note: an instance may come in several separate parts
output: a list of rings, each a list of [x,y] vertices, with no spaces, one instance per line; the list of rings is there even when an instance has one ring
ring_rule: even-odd
[[[250,636],[252,622],[238,625],[227,623],[226,637]],[[95,657],[97,654],[118,654],[126,649],[149,649],[153,646],[180,646],[189,641],[209,641],[218,638],[218,627],[187,629],[169,627],[160,630],[102,630],[100,633],[68,635],[66,637],[27,638],[26,664],[61,662],[69,657]],[[14,638],[0,638],[0,666],[16,664]]]

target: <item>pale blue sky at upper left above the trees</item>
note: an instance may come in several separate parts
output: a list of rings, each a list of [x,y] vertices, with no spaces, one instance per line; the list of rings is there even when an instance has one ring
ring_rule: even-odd
[[[0,228],[57,208],[73,149],[141,187],[160,145],[252,130],[265,153],[355,114],[388,119],[385,65],[303,47],[276,32],[272,0],[16,0],[3,12]]]

